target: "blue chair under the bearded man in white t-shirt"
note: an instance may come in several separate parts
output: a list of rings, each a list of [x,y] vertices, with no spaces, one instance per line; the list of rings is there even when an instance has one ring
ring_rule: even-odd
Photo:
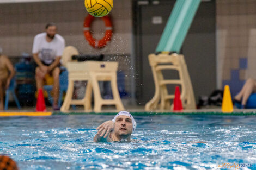
[[[61,68],[63,71],[62,73],[60,73],[59,75],[59,99],[58,99],[58,106],[60,107],[62,104],[62,97],[63,97],[63,93],[66,92],[66,90],[68,89],[68,84],[69,84],[69,80],[68,80],[68,71],[65,68]],[[45,85],[44,86],[44,90],[47,92],[48,95],[48,99],[51,102],[51,104],[53,104],[53,98],[51,95],[51,91],[52,91],[53,85]]]

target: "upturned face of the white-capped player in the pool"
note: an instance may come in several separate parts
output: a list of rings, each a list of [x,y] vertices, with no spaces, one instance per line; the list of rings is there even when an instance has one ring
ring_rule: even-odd
[[[132,119],[129,116],[121,115],[115,119],[114,131],[122,138],[132,134]]]

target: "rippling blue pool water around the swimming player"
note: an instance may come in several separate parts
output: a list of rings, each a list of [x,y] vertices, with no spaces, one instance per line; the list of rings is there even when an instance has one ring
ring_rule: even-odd
[[[131,138],[137,142],[94,143],[96,127],[113,117],[0,117],[0,154],[21,170],[235,169],[218,166],[256,163],[255,115],[135,116]]]

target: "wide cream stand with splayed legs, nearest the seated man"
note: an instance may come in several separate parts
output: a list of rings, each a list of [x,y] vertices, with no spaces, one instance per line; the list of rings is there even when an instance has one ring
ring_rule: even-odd
[[[69,49],[72,48],[69,47]],[[69,62],[68,60],[65,65],[69,71],[69,86],[60,111],[68,111],[70,105],[83,105],[84,111],[92,111],[92,91],[94,93],[94,112],[100,112],[102,105],[115,105],[118,111],[124,110],[117,87],[118,62]],[[81,100],[72,100],[75,81],[87,81],[86,93]],[[111,82],[113,99],[102,99],[98,81]]]

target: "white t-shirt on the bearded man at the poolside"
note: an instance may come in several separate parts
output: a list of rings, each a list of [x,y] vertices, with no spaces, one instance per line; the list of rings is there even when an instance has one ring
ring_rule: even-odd
[[[57,56],[62,56],[65,48],[65,40],[59,34],[55,34],[51,42],[46,41],[46,33],[35,36],[32,53],[38,53],[41,61],[45,64],[52,64]]]

